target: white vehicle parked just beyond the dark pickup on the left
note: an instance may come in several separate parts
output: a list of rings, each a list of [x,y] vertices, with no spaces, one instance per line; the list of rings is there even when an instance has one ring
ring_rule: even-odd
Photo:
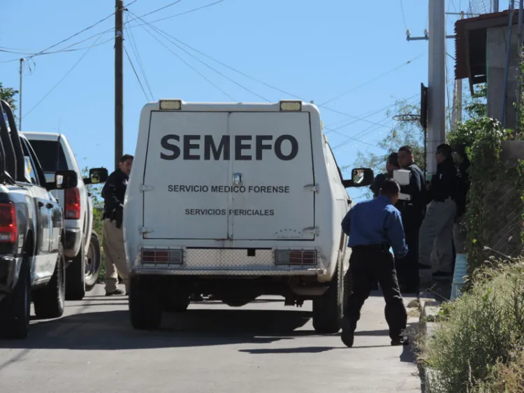
[[[41,162],[47,181],[56,171],[75,171],[78,185],[68,190],[54,190],[52,194],[64,210],[66,222],[66,299],[82,300],[85,292],[93,289],[101,269],[99,235],[93,231],[93,202],[87,185],[94,184],[91,176],[82,179],[73,149],[64,134],[24,132]],[[93,169],[96,184],[108,178],[107,169]]]

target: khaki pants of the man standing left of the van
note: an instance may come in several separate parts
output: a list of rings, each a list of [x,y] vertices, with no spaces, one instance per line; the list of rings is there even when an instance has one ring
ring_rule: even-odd
[[[124,249],[124,231],[117,228],[117,222],[103,220],[103,252],[105,264],[105,292],[117,289],[118,274],[122,277],[126,292],[129,292],[129,268]],[[117,273],[118,271],[118,273]]]

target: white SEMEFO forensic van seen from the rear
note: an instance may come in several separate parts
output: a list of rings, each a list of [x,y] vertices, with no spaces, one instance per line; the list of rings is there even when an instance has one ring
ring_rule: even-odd
[[[314,329],[340,329],[345,188],[373,172],[343,180],[321,128],[302,101],[144,106],[124,203],[133,327],[212,294],[230,306],[312,300]]]

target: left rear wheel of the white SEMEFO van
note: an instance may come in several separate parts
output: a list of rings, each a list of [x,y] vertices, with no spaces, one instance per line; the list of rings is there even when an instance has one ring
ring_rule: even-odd
[[[135,329],[157,329],[162,322],[160,292],[154,280],[131,277],[129,316]]]

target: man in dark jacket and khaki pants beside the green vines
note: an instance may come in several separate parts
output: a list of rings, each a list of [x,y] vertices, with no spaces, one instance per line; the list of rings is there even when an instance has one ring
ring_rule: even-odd
[[[420,231],[419,262],[431,266],[431,251],[437,240],[438,271],[434,279],[453,274],[453,222],[457,210],[457,172],[450,145],[437,147],[437,173],[428,187],[430,206]]]

